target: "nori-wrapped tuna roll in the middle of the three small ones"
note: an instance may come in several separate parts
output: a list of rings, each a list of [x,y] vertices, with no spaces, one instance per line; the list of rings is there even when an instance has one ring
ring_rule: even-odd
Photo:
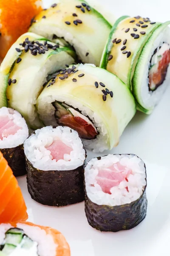
[[[24,152],[31,198],[58,207],[84,200],[86,151],[77,131],[44,127],[24,142]]]

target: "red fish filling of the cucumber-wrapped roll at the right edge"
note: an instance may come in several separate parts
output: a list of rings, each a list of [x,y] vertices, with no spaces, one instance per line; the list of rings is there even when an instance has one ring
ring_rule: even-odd
[[[164,43],[156,49],[150,60],[149,90],[156,90],[166,78],[167,68],[170,64],[170,46]]]

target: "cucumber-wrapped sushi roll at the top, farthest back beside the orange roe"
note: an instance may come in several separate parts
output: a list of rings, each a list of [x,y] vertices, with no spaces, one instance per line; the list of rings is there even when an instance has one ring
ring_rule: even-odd
[[[34,20],[29,32],[49,40],[64,38],[74,47],[81,62],[99,66],[111,25],[86,1],[60,0]]]

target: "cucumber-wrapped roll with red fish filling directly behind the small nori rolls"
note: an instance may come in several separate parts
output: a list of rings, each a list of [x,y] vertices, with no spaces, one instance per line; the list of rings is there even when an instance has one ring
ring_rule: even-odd
[[[37,99],[45,125],[75,129],[85,147],[112,149],[136,112],[130,90],[113,74],[90,64],[56,73]]]

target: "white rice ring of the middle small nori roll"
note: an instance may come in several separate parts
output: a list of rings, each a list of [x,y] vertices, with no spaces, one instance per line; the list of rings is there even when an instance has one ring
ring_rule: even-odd
[[[61,140],[73,150],[70,154],[64,154],[64,159],[58,161],[52,159],[51,151],[47,150],[47,147],[54,140]],[[58,126],[57,128],[47,126],[38,129],[24,142],[24,152],[32,165],[43,171],[74,170],[83,165],[86,157],[79,134],[66,126]]]

